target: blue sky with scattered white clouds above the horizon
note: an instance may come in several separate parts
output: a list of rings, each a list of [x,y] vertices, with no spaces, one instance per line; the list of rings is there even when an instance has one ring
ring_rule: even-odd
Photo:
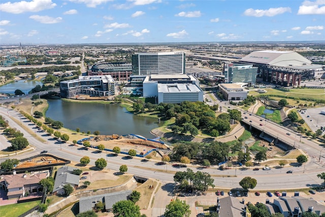
[[[325,0],[1,0],[0,44],[324,41]]]

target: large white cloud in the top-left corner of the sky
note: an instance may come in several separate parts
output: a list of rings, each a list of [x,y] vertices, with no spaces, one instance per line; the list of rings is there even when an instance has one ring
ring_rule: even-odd
[[[56,6],[55,3],[52,3],[52,0],[32,0],[30,2],[21,1],[21,2],[7,2],[0,4],[0,11],[12,13],[12,14],[21,14],[24,12],[39,12],[46,9],[51,9]]]

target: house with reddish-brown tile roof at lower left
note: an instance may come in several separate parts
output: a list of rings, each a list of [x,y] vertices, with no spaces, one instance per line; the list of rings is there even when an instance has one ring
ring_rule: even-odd
[[[0,188],[7,191],[8,199],[24,197],[25,194],[43,191],[39,182],[49,176],[48,172],[44,173],[21,173],[13,175],[2,175],[0,178]]]

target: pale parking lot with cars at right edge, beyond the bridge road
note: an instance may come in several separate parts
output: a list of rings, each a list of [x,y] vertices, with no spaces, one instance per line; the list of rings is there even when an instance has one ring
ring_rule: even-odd
[[[325,115],[320,114],[320,111],[325,111],[325,106],[310,108],[299,112],[300,116],[306,121],[307,125],[313,132],[320,129],[320,127],[325,127]]]

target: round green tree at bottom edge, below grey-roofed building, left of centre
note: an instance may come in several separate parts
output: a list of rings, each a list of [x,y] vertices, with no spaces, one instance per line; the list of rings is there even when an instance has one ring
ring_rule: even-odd
[[[140,208],[131,200],[121,200],[113,205],[114,217],[140,217]]]

